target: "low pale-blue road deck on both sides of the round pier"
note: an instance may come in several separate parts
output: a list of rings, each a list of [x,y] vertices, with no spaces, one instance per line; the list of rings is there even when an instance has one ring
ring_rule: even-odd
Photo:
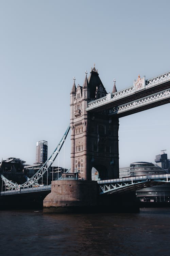
[[[68,180],[68,179],[66,179]],[[70,178],[70,180],[73,180]],[[161,175],[144,175],[144,176],[134,176],[134,177],[125,177],[122,179],[112,179],[112,180],[103,180],[97,181],[100,192],[99,194],[122,194],[129,191],[135,191],[140,188],[152,187],[160,185],[161,183],[170,182],[170,174],[161,174]],[[4,195],[14,195],[14,194],[23,194],[23,193],[34,193],[40,191],[51,190],[51,185],[47,186],[38,186],[30,188],[18,188],[9,191],[2,191],[1,196]]]

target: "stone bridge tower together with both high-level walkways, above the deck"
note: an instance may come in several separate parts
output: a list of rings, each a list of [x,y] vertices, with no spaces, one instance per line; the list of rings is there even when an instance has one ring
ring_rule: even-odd
[[[133,86],[107,93],[96,70],[83,86],[71,90],[71,172],[90,180],[92,167],[101,180],[119,177],[119,118],[170,102],[170,72],[145,79],[138,76]]]

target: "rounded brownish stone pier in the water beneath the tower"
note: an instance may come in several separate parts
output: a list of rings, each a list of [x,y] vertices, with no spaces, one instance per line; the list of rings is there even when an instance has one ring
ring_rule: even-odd
[[[44,212],[81,213],[96,209],[98,184],[96,181],[52,181],[51,193],[43,201]]]

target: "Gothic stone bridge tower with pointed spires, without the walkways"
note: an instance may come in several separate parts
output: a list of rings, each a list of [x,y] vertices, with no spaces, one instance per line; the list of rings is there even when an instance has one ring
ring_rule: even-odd
[[[83,86],[75,86],[73,79],[70,104],[71,172],[80,179],[91,180],[92,167],[101,180],[119,177],[118,129],[119,120],[104,112],[87,112],[87,103],[106,96],[98,70],[87,72]],[[116,91],[114,85],[113,91]]]

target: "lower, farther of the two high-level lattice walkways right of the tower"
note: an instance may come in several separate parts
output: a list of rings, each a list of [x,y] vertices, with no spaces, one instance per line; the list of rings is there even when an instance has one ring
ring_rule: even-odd
[[[150,96],[143,97],[138,100],[134,100],[132,102],[129,102],[129,103],[126,103],[126,104],[123,104],[120,106],[116,106],[109,111],[109,114],[112,114],[112,115],[121,114],[121,113],[124,113],[127,111],[132,111],[137,108],[145,107],[145,106],[146,106],[146,109],[148,109],[150,104],[153,105],[154,103],[156,103],[158,101],[166,102],[165,100],[168,101],[168,99],[170,101],[170,89],[160,91],[159,93],[155,93]],[[166,102],[166,103],[168,103],[168,102]]]

